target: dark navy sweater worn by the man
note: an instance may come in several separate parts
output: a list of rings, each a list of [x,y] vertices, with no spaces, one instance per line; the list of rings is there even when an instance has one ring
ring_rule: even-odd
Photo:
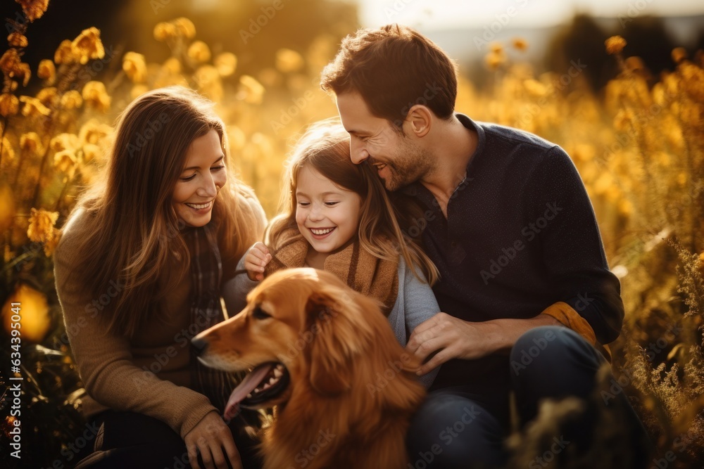
[[[527,319],[562,301],[599,342],[615,340],[624,314],[620,283],[570,157],[533,134],[457,117],[479,141],[447,219],[422,184],[398,194],[425,210],[406,229],[424,229],[425,250],[441,275],[434,286],[440,310],[465,321]],[[508,392],[509,371],[505,355],[453,360],[433,389],[469,383],[471,392]]]

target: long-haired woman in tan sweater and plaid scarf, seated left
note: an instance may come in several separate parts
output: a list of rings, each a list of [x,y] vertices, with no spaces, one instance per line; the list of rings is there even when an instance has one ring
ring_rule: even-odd
[[[241,418],[220,417],[232,375],[189,347],[223,319],[222,282],[266,224],[227,158],[212,103],[181,87],[144,94],[63,229],[56,289],[95,467],[258,467]]]

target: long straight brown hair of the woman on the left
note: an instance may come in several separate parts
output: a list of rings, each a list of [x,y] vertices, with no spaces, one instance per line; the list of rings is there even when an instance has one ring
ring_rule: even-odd
[[[246,202],[256,199],[232,172],[225,125],[213,103],[181,86],[139,96],[118,120],[106,168],[73,212],[86,212],[74,274],[94,297],[111,281],[124,285],[107,309],[113,333],[133,335],[158,314],[159,300],[189,269],[172,194],[191,142],[210,130],[220,137],[229,183],[213,205],[220,250],[239,259],[260,234],[260,214]],[[164,271],[173,275],[158,285]]]

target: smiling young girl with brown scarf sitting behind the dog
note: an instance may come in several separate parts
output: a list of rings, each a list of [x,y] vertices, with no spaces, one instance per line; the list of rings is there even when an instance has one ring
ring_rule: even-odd
[[[241,259],[238,267],[249,279],[234,279],[237,297],[278,269],[331,271],[382,302],[401,345],[439,311],[430,288],[437,278],[434,264],[404,238],[375,171],[351,162],[349,136],[341,124],[320,122],[298,142],[281,206],[284,212],[267,230],[268,248],[256,243]],[[422,378],[425,385],[432,384],[438,369]]]

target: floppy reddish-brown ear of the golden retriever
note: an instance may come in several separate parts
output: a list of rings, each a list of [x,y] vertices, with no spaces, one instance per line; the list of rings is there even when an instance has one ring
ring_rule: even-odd
[[[348,299],[350,302],[351,298]],[[343,299],[329,293],[314,292],[306,303],[308,327],[313,340],[306,347],[310,363],[310,385],[325,396],[334,396],[351,388],[353,356],[360,349],[351,314]]]

